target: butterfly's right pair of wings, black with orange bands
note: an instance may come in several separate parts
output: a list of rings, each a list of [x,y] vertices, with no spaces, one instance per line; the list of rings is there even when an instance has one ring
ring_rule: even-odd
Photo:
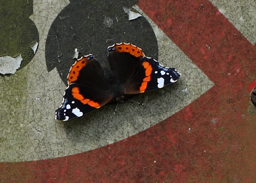
[[[164,67],[132,44],[115,44],[108,48],[113,73],[125,88],[125,94],[140,94],[165,87],[180,77],[174,68]]]

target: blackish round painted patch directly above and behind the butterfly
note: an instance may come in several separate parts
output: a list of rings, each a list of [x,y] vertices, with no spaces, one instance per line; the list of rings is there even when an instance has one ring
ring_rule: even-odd
[[[74,63],[74,49],[93,54],[104,66],[110,45],[130,42],[143,49],[146,56],[158,59],[158,45],[150,23],[144,17],[128,20],[123,8],[136,1],[70,1],[52,24],[45,46],[48,71],[57,68],[67,84],[67,74]]]

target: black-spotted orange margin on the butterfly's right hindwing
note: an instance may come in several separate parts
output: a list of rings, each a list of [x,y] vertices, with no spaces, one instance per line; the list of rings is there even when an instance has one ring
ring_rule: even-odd
[[[137,46],[134,46],[130,43],[115,44],[114,48],[116,49],[117,52],[130,53],[131,55],[133,55],[137,58],[145,56],[142,49],[140,49]]]

